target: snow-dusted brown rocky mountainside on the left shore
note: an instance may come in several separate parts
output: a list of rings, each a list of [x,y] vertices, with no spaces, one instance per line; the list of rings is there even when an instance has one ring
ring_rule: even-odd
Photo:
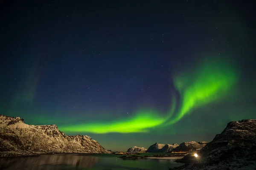
[[[27,125],[0,115],[0,157],[41,153],[108,153],[89,136],[67,136],[56,125]]]

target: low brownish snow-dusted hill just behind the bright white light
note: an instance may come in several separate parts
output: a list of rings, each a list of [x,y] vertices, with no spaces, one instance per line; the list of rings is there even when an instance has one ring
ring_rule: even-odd
[[[176,147],[172,152],[192,152],[202,149],[208,142],[183,142]]]

